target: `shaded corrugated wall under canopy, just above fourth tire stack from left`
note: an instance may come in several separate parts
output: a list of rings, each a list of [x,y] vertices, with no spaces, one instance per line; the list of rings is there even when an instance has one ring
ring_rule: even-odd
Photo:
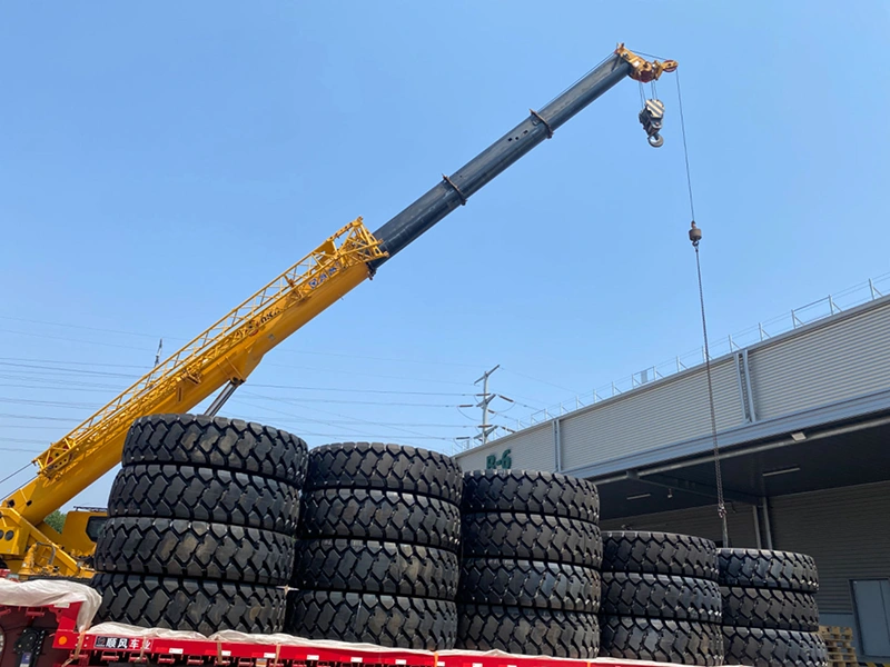
[[[681,532],[705,537],[715,542],[723,539],[723,528],[720,517],[716,515],[715,505],[640,515],[624,519],[609,519],[600,524],[603,530],[621,530],[622,525],[629,525],[630,530]],[[726,527],[733,547],[753,549],[758,546],[754,516],[750,505],[729,504],[726,506]]]

